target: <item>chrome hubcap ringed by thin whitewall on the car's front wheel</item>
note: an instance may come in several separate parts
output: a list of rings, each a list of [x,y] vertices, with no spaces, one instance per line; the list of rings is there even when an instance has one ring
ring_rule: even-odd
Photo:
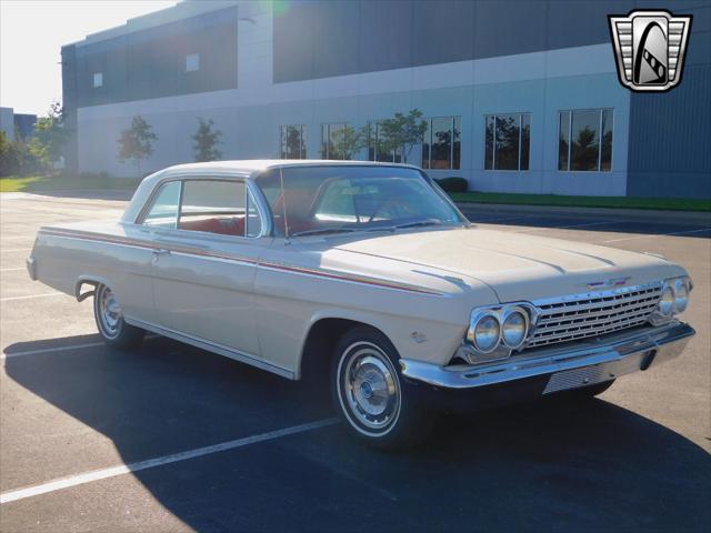
[[[383,431],[400,412],[395,370],[390,359],[374,345],[351,346],[349,352],[350,355],[343,358],[340,374],[344,406],[359,424]]]

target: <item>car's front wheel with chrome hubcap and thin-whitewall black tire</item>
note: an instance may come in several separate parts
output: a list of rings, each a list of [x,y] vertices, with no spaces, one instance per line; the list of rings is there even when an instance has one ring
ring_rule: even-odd
[[[401,378],[398,353],[381,333],[349,330],[338,342],[331,368],[333,406],[348,431],[381,449],[411,447],[432,426]]]

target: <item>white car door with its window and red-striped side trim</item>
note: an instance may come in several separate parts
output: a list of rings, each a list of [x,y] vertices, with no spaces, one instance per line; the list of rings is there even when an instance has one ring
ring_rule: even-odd
[[[154,230],[158,325],[259,356],[253,283],[264,243],[246,182],[200,177],[163,187],[180,188],[180,205],[173,227]]]

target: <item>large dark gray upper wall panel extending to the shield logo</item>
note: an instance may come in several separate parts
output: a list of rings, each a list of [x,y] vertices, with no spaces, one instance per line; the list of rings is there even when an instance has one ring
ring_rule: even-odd
[[[306,0],[273,18],[276,83],[609,42],[631,0]]]

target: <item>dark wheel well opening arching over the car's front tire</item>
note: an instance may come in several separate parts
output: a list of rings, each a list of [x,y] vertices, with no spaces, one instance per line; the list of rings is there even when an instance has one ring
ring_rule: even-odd
[[[314,322],[301,350],[301,379],[313,379],[328,372],[336,344],[346,331],[354,326],[371,328],[382,333],[378,328],[356,320],[321,319]]]

